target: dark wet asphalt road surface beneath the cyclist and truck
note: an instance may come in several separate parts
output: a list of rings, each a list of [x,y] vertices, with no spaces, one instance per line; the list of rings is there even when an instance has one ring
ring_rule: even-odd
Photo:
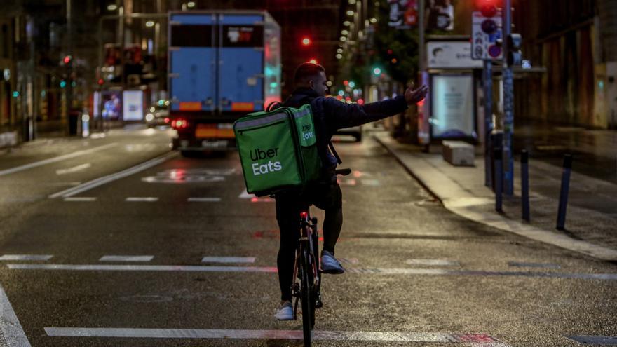
[[[183,158],[171,134],[0,155],[0,345],[301,346],[273,318],[273,203],[236,154]],[[315,346],[617,344],[616,264],[450,214],[368,136],[337,150],[348,271],[324,279]]]

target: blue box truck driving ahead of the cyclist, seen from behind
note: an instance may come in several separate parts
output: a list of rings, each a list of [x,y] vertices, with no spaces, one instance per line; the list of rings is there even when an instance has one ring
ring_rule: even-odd
[[[173,148],[235,148],[233,122],[280,101],[280,27],[266,11],[170,12],[168,38]]]

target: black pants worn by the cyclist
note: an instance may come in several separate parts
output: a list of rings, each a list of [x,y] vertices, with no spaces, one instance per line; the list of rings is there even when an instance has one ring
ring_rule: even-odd
[[[343,225],[343,196],[341,187],[332,184],[314,184],[305,193],[280,193],[276,195],[276,220],[280,229],[280,247],[276,266],[278,267],[278,284],[280,298],[292,299],[291,285],[294,275],[294,261],[298,247],[299,216],[310,204],[325,211],[323,220],[323,250],[334,253],[341,226]]]

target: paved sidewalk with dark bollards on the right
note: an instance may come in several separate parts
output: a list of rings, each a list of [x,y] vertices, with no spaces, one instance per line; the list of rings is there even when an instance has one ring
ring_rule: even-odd
[[[441,146],[430,153],[402,144],[387,132],[374,137],[405,169],[451,212],[475,222],[533,240],[617,261],[617,185],[572,172],[566,231],[557,231],[557,204],[562,168],[529,158],[531,222],[521,219],[520,165],[515,163],[515,195],[503,198],[503,213],[495,211],[491,189],[484,186],[484,158],[475,167],[453,166],[443,160]]]

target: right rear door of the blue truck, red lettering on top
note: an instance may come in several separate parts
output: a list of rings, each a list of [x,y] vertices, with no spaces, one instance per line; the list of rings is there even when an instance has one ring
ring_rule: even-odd
[[[219,15],[219,107],[264,109],[264,16]]]

